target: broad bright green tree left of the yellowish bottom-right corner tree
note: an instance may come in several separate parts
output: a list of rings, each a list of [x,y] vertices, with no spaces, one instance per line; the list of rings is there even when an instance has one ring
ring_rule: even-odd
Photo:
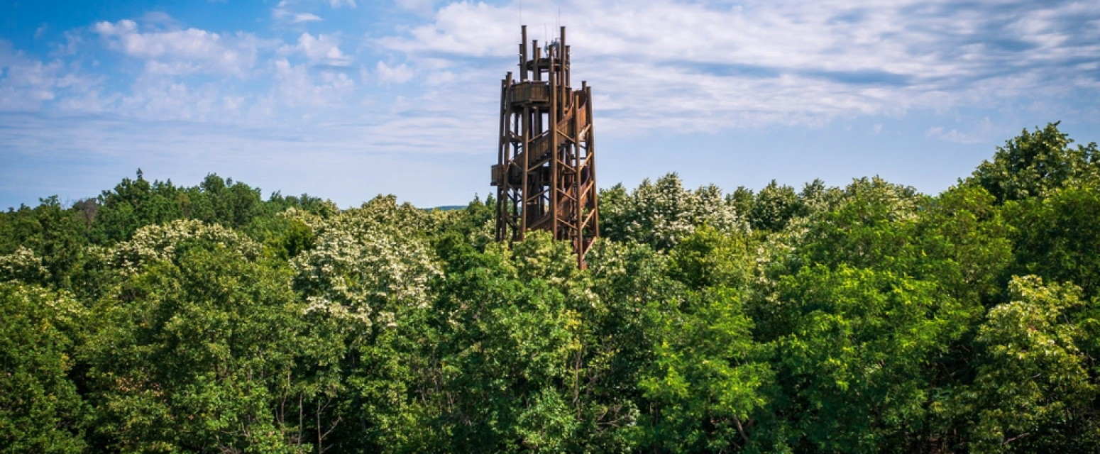
[[[782,279],[773,326],[801,449],[877,452],[926,423],[937,358],[970,320],[934,283],[890,272],[803,268]]]

